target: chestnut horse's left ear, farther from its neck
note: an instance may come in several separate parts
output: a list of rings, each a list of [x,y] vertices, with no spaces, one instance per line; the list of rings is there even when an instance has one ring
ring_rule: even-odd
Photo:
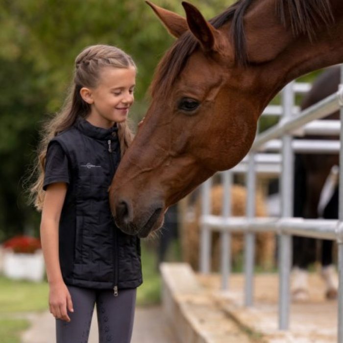
[[[153,9],[153,11],[156,13],[161,22],[166,26],[168,32],[172,36],[179,38],[184,32],[188,30],[187,21],[185,18],[179,16],[174,12],[156,6],[150,1],[146,2]]]

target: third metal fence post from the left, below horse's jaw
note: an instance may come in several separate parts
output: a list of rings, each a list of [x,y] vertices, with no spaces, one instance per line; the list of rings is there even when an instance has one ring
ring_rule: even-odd
[[[256,172],[255,154],[251,152],[248,160],[248,171],[246,179],[246,217],[255,217],[255,193],[256,193]],[[245,306],[252,306],[253,303],[253,282],[254,282],[254,260],[255,260],[255,234],[246,227],[245,233]]]

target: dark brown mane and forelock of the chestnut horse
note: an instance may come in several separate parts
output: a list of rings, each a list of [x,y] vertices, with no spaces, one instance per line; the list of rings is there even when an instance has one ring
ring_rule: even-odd
[[[247,65],[248,55],[244,30],[244,15],[254,0],[238,0],[224,12],[209,20],[215,27],[220,28],[230,20],[231,38],[235,47],[235,60],[239,65]],[[333,15],[329,0],[275,0],[276,14],[280,22],[291,25],[295,36],[307,34],[309,39],[315,37],[316,27],[320,23],[328,25],[333,22]],[[184,68],[188,57],[198,46],[194,35],[187,31],[166,52],[157,66],[150,86],[152,96],[157,93],[167,94],[176,77]]]

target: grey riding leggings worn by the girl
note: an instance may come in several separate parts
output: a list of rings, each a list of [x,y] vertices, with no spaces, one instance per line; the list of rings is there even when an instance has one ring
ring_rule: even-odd
[[[130,343],[136,304],[136,288],[93,290],[67,286],[74,312],[71,321],[56,319],[56,343],[88,343],[94,305],[97,305],[99,343]]]

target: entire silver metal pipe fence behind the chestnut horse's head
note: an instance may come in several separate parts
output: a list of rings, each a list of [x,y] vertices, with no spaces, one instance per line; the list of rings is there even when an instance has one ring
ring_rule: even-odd
[[[341,83],[343,83],[343,65]],[[211,215],[211,179],[202,185],[202,216],[200,217],[200,271],[210,271],[211,232],[221,232],[221,287],[227,289],[230,276],[230,233],[245,233],[245,305],[253,304],[253,272],[255,233],[271,231],[278,235],[279,249],[279,329],[289,328],[290,316],[290,270],[292,263],[292,235],[336,240],[338,243],[338,342],[343,343],[343,168],[340,168],[339,219],[305,220],[293,216],[294,152],[340,153],[343,166],[343,87],[337,93],[299,113],[294,106],[296,93],[306,93],[310,85],[291,82],[282,91],[282,106],[268,106],[263,115],[281,115],[279,122],[256,136],[247,157],[235,168],[221,172],[223,202],[221,216]],[[341,121],[320,122],[323,118],[341,108]],[[340,141],[297,140],[295,133],[316,135],[340,135]],[[279,153],[274,153],[279,151]],[[265,152],[265,153],[263,153]],[[268,152],[268,153],[266,153]],[[233,173],[246,173],[246,217],[230,217],[230,187]],[[280,174],[281,216],[280,218],[255,218],[255,183],[257,173]]]

